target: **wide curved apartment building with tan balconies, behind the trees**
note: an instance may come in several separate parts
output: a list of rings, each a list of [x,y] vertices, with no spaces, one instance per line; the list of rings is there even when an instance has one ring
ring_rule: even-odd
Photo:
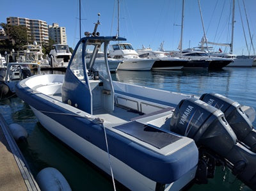
[[[40,45],[49,43],[48,25],[44,20],[21,17],[8,17],[6,20],[8,26],[26,26],[30,40],[34,40]]]

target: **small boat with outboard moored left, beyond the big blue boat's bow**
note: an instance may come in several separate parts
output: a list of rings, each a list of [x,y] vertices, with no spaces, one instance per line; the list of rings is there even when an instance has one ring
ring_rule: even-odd
[[[8,63],[0,69],[0,98],[15,94],[16,84],[33,74],[40,73],[38,63]]]

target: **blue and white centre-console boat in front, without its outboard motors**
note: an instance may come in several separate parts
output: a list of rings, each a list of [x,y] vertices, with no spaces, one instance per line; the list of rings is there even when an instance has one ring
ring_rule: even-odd
[[[172,113],[173,108],[163,105],[164,100],[152,105],[152,99],[139,98],[136,100],[141,102],[142,111],[139,112],[135,111],[137,103],[134,99],[130,100],[122,92],[123,88],[132,88],[133,93],[147,91],[150,95],[156,90],[112,82],[107,47],[110,41],[120,40],[125,39],[116,36],[81,38],[65,75],[34,75],[19,83],[17,95],[29,104],[51,134],[102,171],[111,174],[113,169],[115,180],[125,187],[131,190],[156,190],[158,187],[170,190],[175,187],[179,190],[195,177],[198,149],[193,139],[154,125],[162,121],[158,125],[164,126],[164,119]],[[84,59],[87,45],[95,47],[88,63]],[[104,63],[95,62],[101,46],[104,47]],[[169,106],[177,104],[181,98],[190,97],[168,91],[161,93],[166,99],[173,95]],[[152,115],[152,111],[156,114]],[[149,114],[145,117],[152,121],[152,125],[140,122],[146,119],[141,118],[142,113]]]

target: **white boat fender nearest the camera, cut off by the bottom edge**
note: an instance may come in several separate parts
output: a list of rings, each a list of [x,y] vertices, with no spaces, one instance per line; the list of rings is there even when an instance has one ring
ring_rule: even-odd
[[[42,191],[70,191],[70,185],[60,171],[52,167],[42,169],[36,176],[36,182]]]

